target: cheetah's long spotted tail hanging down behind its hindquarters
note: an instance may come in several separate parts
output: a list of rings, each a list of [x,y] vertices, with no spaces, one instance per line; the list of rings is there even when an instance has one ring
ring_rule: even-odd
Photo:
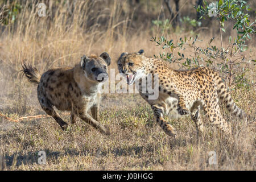
[[[247,118],[248,116],[246,115],[245,111],[240,109],[236,105],[236,103],[234,103],[232,97],[230,96],[229,92],[226,89],[224,82],[222,82],[221,77],[218,76],[217,72],[214,73],[213,77],[214,77],[214,81],[217,86],[218,97],[220,98],[220,101],[226,106],[226,109],[228,109],[228,111],[232,115],[234,115],[240,119]]]

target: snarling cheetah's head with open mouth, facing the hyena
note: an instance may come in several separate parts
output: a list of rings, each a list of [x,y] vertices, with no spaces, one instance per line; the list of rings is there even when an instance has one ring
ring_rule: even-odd
[[[123,52],[117,61],[118,71],[125,75],[129,85],[144,76],[143,53],[143,49],[135,53]]]

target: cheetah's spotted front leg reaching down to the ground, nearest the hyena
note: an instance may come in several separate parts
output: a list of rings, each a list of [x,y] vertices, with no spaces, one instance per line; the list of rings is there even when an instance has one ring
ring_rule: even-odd
[[[154,111],[155,119],[158,125],[164,130],[167,135],[172,137],[176,136],[176,131],[174,127],[170,125],[164,118],[163,118],[163,107],[160,105],[151,105],[152,110]]]

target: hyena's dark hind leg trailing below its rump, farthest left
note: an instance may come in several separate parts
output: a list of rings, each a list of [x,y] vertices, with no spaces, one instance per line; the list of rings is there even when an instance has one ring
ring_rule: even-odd
[[[60,114],[53,109],[53,105],[51,104],[51,102],[49,102],[47,98],[40,97],[39,102],[42,106],[42,109],[46,111],[48,115],[51,115],[56,120],[56,122],[60,125],[61,129],[67,130],[68,123],[64,122],[63,119],[61,119]]]

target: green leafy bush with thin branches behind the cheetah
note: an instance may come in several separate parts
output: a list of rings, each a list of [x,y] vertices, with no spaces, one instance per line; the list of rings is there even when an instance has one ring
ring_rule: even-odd
[[[155,42],[156,46],[168,49],[167,53],[160,53],[162,59],[179,63],[182,68],[198,67],[200,65],[210,66],[224,73],[226,86],[230,87],[234,83],[245,81],[245,79],[241,79],[241,75],[236,75],[235,69],[240,68],[242,64],[247,67],[248,64],[253,63],[255,65],[256,62],[255,59],[248,59],[242,54],[247,49],[246,42],[251,39],[251,35],[255,34],[255,19],[253,22],[250,21],[248,13],[250,10],[249,5],[240,0],[220,0],[210,4],[204,1],[204,6],[197,7],[201,18],[211,15],[217,19],[221,48],[212,45],[214,37],[209,40],[206,48],[196,46],[196,41],[201,41],[197,35],[195,38],[180,38],[179,42],[177,41],[176,43],[173,40],[167,40],[164,36],[160,38],[153,37],[151,41]],[[228,43],[224,45],[222,32],[225,32],[225,23],[227,21],[234,22],[233,29],[236,30],[237,35],[233,38],[229,36]],[[179,52],[184,51],[186,48],[193,50],[191,57],[185,57],[183,53]],[[177,54],[174,50],[178,50]],[[216,63],[216,60],[221,60],[221,62]],[[248,83],[248,81],[246,82]]]

